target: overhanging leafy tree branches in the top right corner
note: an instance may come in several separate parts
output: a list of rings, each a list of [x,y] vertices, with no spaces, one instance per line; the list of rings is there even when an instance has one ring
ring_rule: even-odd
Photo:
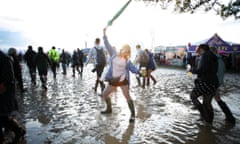
[[[159,4],[161,8],[167,9],[173,4],[173,9],[179,13],[194,13],[199,10],[216,11],[223,19],[233,16],[240,19],[240,0],[136,0],[145,3]]]

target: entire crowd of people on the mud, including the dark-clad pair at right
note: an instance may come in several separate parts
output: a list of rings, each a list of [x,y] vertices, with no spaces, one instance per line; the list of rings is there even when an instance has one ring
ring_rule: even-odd
[[[96,72],[93,89],[97,92],[98,85],[100,85],[101,96],[106,103],[106,109],[101,111],[101,114],[112,113],[110,94],[120,87],[131,113],[129,122],[134,122],[135,106],[129,93],[130,72],[136,74],[137,86],[145,88],[150,85],[150,80],[155,85],[157,80],[152,75],[152,71],[156,69],[154,56],[148,49],[143,50],[140,45],[136,45],[137,54],[134,62],[131,62],[131,46],[125,44],[117,51],[110,44],[106,31],[107,28],[103,30],[105,47],[101,46],[101,40],[97,38],[95,46],[89,51],[86,62],[84,62],[84,54],[79,48],[74,50],[71,56],[64,50],[60,54],[55,46],[47,53],[44,52],[43,47],[38,47],[38,52],[35,52],[32,46],[28,46],[23,58],[28,66],[31,83],[36,85],[38,73],[43,90],[47,90],[49,68],[53,72],[54,79],[57,78],[56,70],[60,64],[63,75],[67,74],[67,67],[71,64],[72,76],[75,77],[75,71],[82,76],[84,65],[93,59],[92,72]],[[199,61],[197,66],[190,71],[197,74],[198,78],[194,82],[195,86],[190,94],[190,99],[206,122],[212,123],[213,121],[211,101],[212,98],[215,98],[225,113],[226,120],[235,123],[234,116],[219,95],[219,86],[223,85],[223,66],[220,56],[208,45],[200,45],[196,53],[199,54]],[[7,54],[0,51],[0,68],[0,143],[2,143],[4,141],[3,129],[4,131],[14,131],[16,141],[26,133],[25,129],[11,116],[11,113],[18,109],[15,84],[21,93],[27,89],[23,85],[21,64],[15,48],[10,48]],[[106,72],[103,73],[104,71]],[[198,100],[200,96],[203,96],[202,103]]]

